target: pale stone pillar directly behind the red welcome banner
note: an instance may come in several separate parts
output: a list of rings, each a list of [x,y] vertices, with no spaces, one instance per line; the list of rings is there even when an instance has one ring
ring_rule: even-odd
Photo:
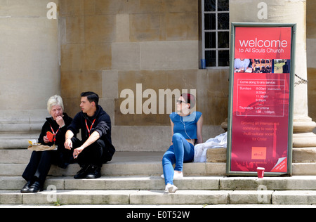
[[[307,79],[306,60],[306,0],[230,0],[231,22],[275,22],[296,23],[296,74]],[[296,77],[295,81],[301,79]],[[294,154],[293,161],[316,162],[316,135],[312,130],[316,123],[308,117],[308,85],[297,84],[294,90]],[[305,166],[295,166],[295,174],[316,174],[306,172]]]

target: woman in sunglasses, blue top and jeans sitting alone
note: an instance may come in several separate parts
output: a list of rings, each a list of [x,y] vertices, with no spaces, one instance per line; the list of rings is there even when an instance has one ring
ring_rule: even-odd
[[[202,112],[192,112],[195,96],[183,93],[177,100],[177,111],[170,115],[172,141],[171,147],[162,157],[164,178],[167,192],[176,192],[173,178],[183,178],[183,162],[192,162],[195,157],[195,144],[203,143]],[[173,169],[173,164],[176,167]]]

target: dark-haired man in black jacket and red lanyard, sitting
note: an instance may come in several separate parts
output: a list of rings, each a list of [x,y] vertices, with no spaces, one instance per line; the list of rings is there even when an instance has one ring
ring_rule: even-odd
[[[81,112],[68,126],[65,148],[74,149],[81,170],[74,178],[99,178],[101,167],[112,159],[115,148],[111,139],[110,116],[98,105],[99,96],[93,92],[81,93]],[[81,129],[81,139],[74,137]]]

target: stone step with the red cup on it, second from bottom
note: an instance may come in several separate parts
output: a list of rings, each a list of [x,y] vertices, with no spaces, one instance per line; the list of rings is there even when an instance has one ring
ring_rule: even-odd
[[[26,181],[20,176],[0,176],[0,190],[20,190]],[[223,177],[185,176],[175,179],[180,190],[316,190],[316,176],[292,177]],[[108,176],[96,180],[75,180],[73,177],[46,179],[44,188],[56,190],[162,190],[160,176]]]

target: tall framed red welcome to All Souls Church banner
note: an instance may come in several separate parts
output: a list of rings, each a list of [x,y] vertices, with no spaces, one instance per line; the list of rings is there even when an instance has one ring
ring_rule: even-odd
[[[294,27],[232,24],[228,175],[291,174]]]

